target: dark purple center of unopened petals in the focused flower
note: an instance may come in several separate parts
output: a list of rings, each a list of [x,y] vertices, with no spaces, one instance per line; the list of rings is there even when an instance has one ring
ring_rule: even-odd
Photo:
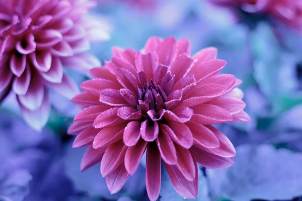
[[[138,90],[138,103],[142,113],[146,113],[148,110],[154,110],[159,112],[165,109],[165,100],[167,96],[161,86],[155,84],[153,80],[150,80],[149,84],[144,84],[142,88]],[[140,101],[139,101],[140,100]],[[141,107],[143,105],[143,107]],[[147,107],[147,110],[144,107]]]

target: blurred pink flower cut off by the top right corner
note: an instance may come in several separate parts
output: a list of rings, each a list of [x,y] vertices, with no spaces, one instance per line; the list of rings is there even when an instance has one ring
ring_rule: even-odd
[[[288,26],[302,31],[302,2],[296,0],[208,0],[216,5],[241,8],[277,19]]]

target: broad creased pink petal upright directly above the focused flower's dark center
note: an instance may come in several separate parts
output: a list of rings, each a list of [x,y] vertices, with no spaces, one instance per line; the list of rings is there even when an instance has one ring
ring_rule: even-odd
[[[135,66],[137,71],[143,71],[147,80],[153,79],[153,73],[159,65],[159,58],[155,52],[149,52],[146,54],[137,53],[135,58]]]

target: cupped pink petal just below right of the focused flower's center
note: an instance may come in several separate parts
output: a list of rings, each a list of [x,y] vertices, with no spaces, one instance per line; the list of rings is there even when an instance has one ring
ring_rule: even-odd
[[[160,127],[180,146],[189,149],[193,145],[193,135],[185,124],[169,121],[168,125],[160,124]]]

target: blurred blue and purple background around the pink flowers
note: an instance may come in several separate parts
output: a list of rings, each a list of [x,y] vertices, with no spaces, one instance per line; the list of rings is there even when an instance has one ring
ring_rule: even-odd
[[[100,18],[110,40],[91,44],[90,52],[104,63],[110,60],[112,47],[139,50],[150,36],[186,38],[192,53],[216,47],[217,57],[228,62],[222,73],[243,80],[252,122],[218,126],[237,149],[235,164],[219,171],[200,167],[197,200],[301,201],[302,29],[295,23],[302,27],[302,17],[290,23],[275,13],[251,11],[247,5],[212,2],[219,1],[99,0],[91,14]],[[296,7],[302,16],[301,4]],[[286,12],[290,11],[279,14],[286,17]],[[78,72],[67,73],[78,84],[88,79]],[[55,92],[50,97],[51,115],[42,132],[26,125],[13,95],[0,107],[0,200],[148,200],[143,164],[112,195],[99,165],[81,173],[86,148],[72,149],[73,136],[66,134],[79,111]],[[165,173],[160,195],[162,201],[183,200]]]

